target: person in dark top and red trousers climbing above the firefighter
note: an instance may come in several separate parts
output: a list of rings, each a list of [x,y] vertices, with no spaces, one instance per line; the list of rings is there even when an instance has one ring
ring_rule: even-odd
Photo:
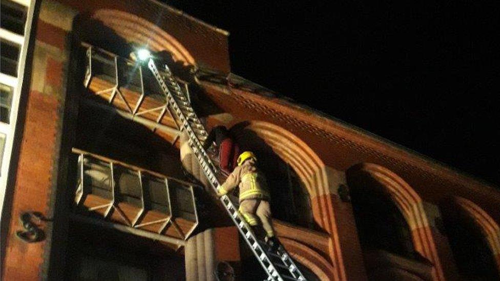
[[[238,144],[224,126],[216,126],[210,131],[203,148],[207,150],[215,141],[219,149],[219,166],[227,175],[236,168],[236,160],[240,153]]]

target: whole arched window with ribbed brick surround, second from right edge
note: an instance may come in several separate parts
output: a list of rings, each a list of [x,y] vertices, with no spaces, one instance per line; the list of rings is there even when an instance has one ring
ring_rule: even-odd
[[[367,275],[380,279],[442,279],[422,199],[398,175],[377,164],[346,171]]]

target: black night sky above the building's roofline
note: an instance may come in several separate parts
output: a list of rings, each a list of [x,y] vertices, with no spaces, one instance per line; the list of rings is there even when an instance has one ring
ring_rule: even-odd
[[[497,1],[170,1],[232,72],[500,185]]]

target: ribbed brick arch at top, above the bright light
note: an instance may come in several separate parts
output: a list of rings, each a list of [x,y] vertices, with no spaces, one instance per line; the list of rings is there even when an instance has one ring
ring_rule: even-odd
[[[128,42],[145,46],[154,52],[169,51],[174,61],[184,66],[195,64],[193,56],[174,36],[144,18],[113,9],[97,10],[91,18],[100,21]]]

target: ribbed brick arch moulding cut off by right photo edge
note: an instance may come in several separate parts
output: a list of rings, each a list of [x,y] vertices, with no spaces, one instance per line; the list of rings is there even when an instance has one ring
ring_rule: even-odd
[[[490,215],[474,202],[454,197],[453,203],[459,206],[465,214],[479,227],[486,237],[488,246],[493,254],[498,271],[500,271],[500,227]]]

